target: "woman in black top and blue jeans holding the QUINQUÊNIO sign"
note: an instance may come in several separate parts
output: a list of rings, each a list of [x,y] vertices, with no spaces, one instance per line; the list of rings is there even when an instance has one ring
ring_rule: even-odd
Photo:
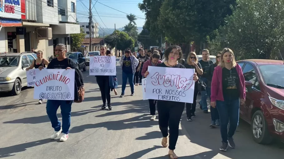
[[[74,101],[78,101],[78,87],[84,85],[82,79],[82,72],[76,68],[76,63],[72,59],[67,58],[65,53],[67,52],[66,46],[64,44],[57,44],[55,48],[55,56],[47,66],[47,69],[76,69],[75,71],[75,87],[74,87]],[[38,69],[42,70],[43,66],[39,66]],[[54,128],[54,132],[51,135],[50,139],[55,139],[57,136],[62,133],[60,141],[66,141],[68,139],[68,133],[71,123],[71,105],[73,101],[69,100],[47,100],[47,116],[51,121],[51,126]],[[61,116],[62,116],[62,128],[61,123],[57,118],[56,112],[60,107]],[[62,130],[62,131],[61,131]]]

